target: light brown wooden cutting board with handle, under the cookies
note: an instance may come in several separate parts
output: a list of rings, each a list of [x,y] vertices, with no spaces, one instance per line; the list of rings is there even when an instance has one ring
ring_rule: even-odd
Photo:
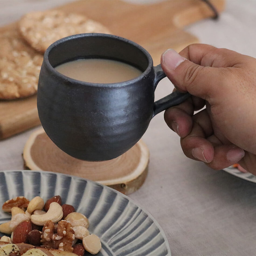
[[[225,0],[212,0],[223,11]],[[184,32],[184,26],[213,16],[201,0],[165,0],[157,4],[131,4],[122,0],[79,0],[58,7],[66,12],[87,15],[107,26],[112,34],[141,44],[151,54],[154,64],[168,48],[177,51],[191,43],[195,36]],[[14,24],[0,28],[0,33]],[[0,139],[40,125],[36,96],[18,101],[0,101]]]

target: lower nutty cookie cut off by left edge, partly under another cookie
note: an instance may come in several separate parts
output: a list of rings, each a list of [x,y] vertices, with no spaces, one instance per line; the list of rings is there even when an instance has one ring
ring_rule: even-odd
[[[18,29],[0,35],[0,99],[29,97],[37,92],[43,55],[30,47]]]

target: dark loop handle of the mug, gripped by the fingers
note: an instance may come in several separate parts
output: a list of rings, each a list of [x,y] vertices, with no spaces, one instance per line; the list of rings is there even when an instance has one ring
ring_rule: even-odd
[[[154,67],[155,70],[155,80],[154,80],[154,90],[158,85],[159,81],[166,77],[166,74],[163,72],[161,64]],[[173,93],[163,97],[162,99],[155,101],[153,116],[158,113],[166,110],[167,108],[179,105],[183,101],[185,101],[191,95],[189,93],[180,93],[179,91],[174,91]]]

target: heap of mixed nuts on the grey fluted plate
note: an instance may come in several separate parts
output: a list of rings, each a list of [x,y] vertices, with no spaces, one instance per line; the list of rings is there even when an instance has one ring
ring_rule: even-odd
[[[11,213],[11,220],[0,225],[0,232],[11,237],[0,238],[0,249],[4,242],[58,249],[79,256],[85,251],[97,254],[101,250],[100,238],[88,231],[87,217],[76,212],[72,205],[62,204],[59,195],[45,203],[40,196],[30,202],[18,196],[6,201],[2,209]]]

